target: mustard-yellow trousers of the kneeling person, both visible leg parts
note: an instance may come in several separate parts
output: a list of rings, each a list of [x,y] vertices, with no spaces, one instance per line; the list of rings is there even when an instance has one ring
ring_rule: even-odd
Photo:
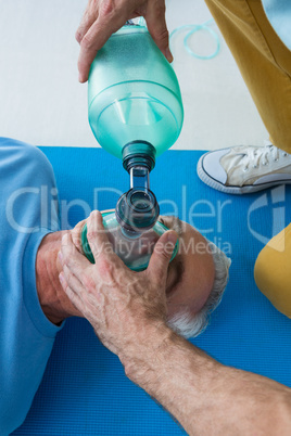
[[[240,68],[275,145],[291,153],[291,52],[261,0],[205,0]],[[291,29],[290,29],[291,31]],[[291,225],[260,253],[258,288],[291,318]]]

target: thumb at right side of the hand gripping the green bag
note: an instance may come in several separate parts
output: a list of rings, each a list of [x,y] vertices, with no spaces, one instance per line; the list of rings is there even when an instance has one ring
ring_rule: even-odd
[[[159,5],[156,4],[156,1],[150,1],[147,7],[144,18],[154,42],[168,62],[173,62],[173,55],[168,47],[168,30],[165,13],[166,8],[163,0],[159,2]]]

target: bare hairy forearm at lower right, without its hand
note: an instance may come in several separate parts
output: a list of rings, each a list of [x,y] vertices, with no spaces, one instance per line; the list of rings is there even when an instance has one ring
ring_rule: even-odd
[[[142,358],[119,358],[127,376],[190,435],[290,435],[289,388],[225,367],[176,334],[150,343]]]

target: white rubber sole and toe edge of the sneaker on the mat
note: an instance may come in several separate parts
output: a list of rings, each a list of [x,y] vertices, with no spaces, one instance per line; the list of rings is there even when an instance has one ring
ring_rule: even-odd
[[[200,159],[198,161],[197,174],[198,174],[198,177],[200,178],[200,180],[202,180],[205,184],[215,189],[216,191],[225,192],[226,194],[241,195],[241,194],[251,194],[252,192],[263,191],[264,189],[277,187],[279,184],[291,184],[290,180],[286,180],[286,181],[278,180],[278,181],[271,181],[268,183],[261,183],[261,184],[246,184],[244,187],[225,185],[225,184],[220,183],[218,180],[215,180],[213,177],[211,177],[206,172],[205,168],[203,167],[203,159],[206,154],[203,154],[200,157]]]

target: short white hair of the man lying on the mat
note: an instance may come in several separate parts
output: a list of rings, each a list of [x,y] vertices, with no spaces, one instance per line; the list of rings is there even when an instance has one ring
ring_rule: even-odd
[[[208,325],[211,313],[222,302],[228,282],[228,270],[231,264],[230,258],[213,244],[213,242],[206,241],[212,252],[215,268],[215,278],[210,296],[198,313],[191,315],[187,311],[182,311],[168,320],[169,328],[186,338],[195,337],[204,332]]]

